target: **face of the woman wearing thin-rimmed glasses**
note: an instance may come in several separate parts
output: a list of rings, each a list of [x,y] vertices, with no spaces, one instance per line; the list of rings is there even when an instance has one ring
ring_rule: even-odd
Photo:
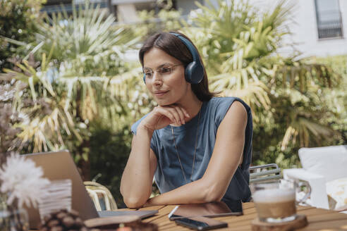
[[[191,91],[185,81],[184,65],[158,48],[147,51],[143,57],[146,86],[159,106],[180,104]]]

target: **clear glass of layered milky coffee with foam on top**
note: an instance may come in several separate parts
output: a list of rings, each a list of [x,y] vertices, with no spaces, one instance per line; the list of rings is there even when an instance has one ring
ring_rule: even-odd
[[[293,180],[252,183],[252,199],[259,220],[267,223],[295,220],[296,185]]]

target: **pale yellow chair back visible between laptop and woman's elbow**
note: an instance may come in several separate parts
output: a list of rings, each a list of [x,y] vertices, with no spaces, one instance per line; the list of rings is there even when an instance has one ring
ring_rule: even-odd
[[[83,183],[97,211],[112,211],[118,208],[116,201],[114,201],[114,196],[109,192],[109,189],[97,182],[85,181]]]

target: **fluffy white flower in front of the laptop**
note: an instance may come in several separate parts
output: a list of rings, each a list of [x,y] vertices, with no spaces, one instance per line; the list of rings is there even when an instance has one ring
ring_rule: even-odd
[[[30,203],[36,207],[42,197],[47,195],[46,188],[50,183],[42,176],[42,168],[36,167],[34,161],[11,154],[0,168],[0,192],[8,194],[8,205],[17,199],[19,208],[23,204],[30,206]]]

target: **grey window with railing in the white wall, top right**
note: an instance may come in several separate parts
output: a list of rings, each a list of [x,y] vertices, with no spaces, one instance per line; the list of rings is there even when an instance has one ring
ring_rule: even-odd
[[[343,37],[339,0],[315,0],[318,38]]]

